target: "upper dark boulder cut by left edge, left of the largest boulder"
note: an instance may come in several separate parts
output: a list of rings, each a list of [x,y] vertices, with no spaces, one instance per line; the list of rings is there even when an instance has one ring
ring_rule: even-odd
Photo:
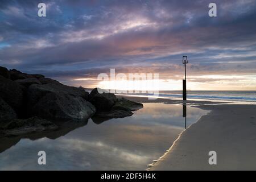
[[[0,96],[14,110],[18,110],[22,106],[23,90],[24,87],[17,82],[0,76]]]

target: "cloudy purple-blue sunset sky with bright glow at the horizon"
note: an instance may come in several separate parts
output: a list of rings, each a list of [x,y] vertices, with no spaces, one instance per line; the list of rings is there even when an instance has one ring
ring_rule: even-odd
[[[157,73],[151,89],[181,90],[187,55],[189,90],[256,90],[255,22],[255,0],[1,0],[0,65],[85,88],[110,69]]]

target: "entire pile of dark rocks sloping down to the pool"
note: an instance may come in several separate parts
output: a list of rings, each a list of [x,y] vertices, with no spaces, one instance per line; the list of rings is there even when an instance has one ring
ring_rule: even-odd
[[[3,138],[13,135],[28,136],[31,133],[30,136],[36,138],[43,136],[44,131],[58,128],[54,123],[41,118],[54,119],[55,123],[59,119],[61,123],[67,120],[79,121],[79,125],[85,125],[84,122],[96,110],[97,115],[93,117],[93,121],[100,123],[110,118],[133,115],[132,111],[143,107],[142,104],[125,98],[117,99],[107,90],[96,88],[89,94],[82,87],[65,86],[51,78],[44,78],[43,75],[30,75],[16,69],[8,71],[3,67],[0,67],[0,97],[0,121],[3,121],[0,122],[0,135]],[[17,119],[17,115],[20,118],[32,118]],[[64,126],[63,131],[66,131]]]

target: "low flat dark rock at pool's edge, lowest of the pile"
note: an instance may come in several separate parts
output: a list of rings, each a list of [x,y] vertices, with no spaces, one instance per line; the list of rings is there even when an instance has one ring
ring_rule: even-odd
[[[29,119],[13,119],[13,121],[2,127],[0,131],[8,136],[18,136],[24,134],[30,134],[34,132],[44,132],[58,129],[58,126],[46,119],[38,117],[32,117]]]

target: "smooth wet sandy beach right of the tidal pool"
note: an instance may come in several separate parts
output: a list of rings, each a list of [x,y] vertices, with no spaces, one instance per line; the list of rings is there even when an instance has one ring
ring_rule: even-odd
[[[147,100],[129,97],[139,102],[165,102],[176,100]],[[188,101],[209,110],[184,130],[170,149],[148,170],[255,170],[256,169],[256,105],[217,104],[208,101]],[[217,165],[210,165],[209,151],[216,151]]]

